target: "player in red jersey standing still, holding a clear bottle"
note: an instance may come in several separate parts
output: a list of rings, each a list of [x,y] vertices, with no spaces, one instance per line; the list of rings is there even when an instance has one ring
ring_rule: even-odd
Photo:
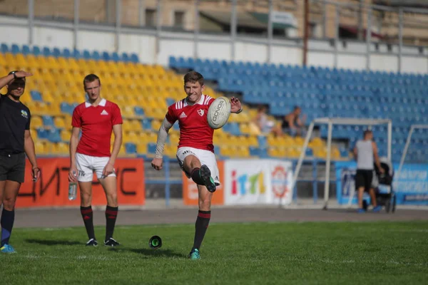
[[[68,180],[77,182],[81,192],[81,214],[88,233],[87,246],[98,242],[93,231],[92,179],[96,172],[106,192],[106,238],[104,245],[119,245],[113,239],[118,214],[116,174],[114,162],[122,144],[122,115],[118,105],[101,98],[101,81],[89,74],[83,80],[88,100],[73,110],[73,132],[70,139],[70,172]],[[110,152],[111,132],[114,133],[113,150]],[[78,135],[82,131],[81,139]]]

